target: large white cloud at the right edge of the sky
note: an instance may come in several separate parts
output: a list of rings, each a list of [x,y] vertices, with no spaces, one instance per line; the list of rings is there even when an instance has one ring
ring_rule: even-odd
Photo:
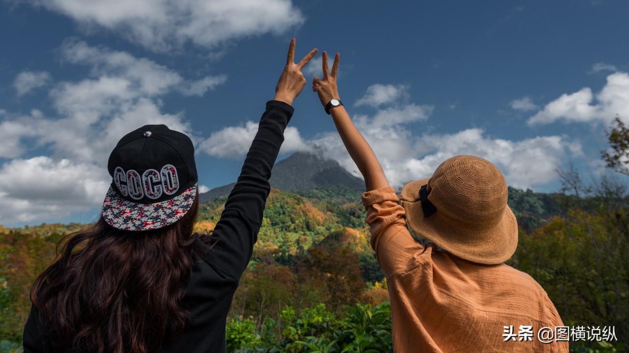
[[[626,72],[609,75],[607,84],[596,95],[589,87],[562,94],[528,119],[528,124],[550,124],[559,120],[609,124],[616,114],[623,121],[629,121],[629,73]]]

